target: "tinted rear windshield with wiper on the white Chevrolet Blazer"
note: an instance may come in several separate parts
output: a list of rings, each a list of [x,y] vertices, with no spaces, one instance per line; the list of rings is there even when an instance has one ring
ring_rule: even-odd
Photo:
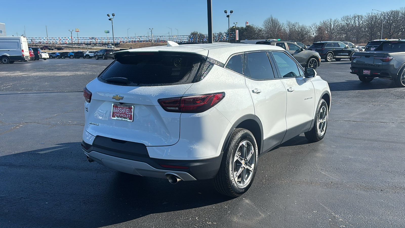
[[[120,53],[98,79],[122,86],[163,86],[195,81],[203,56],[188,53]]]

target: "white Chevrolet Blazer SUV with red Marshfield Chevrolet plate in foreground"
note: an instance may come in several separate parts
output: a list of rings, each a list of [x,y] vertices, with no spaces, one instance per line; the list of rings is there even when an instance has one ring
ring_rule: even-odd
[[[281,47],[169,41],[114,55],[84,88],[90,162],[170,183],[214,179],[237,197],[260,155],[301,133],[325,135],[328,83]]]

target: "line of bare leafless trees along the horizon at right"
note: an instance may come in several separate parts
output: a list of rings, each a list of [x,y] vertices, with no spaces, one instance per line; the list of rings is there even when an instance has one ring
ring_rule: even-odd
[[[266,18],[262,26],[249,25],[232,27],[229,30],[230,42],[235,42],[235,29],[239,30],[239,40],[282,39],[312,43],[317,41],[350,41],[367,43],[381,38],[381,25],[384,23],[383,39],[405,39],[405,7],[396,10],[365,15],[346,15],[337,19],[326,19],[319,24],[299,24],[298,22],[280,22],[272,15]],[[207,37],[192,32],[190,42],[206,41]],[[213,35],[214,41],[228,41],[228,30]]]

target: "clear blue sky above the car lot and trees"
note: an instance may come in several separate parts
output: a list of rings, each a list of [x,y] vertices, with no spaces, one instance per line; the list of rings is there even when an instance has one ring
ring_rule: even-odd
[[[2,1],[0,23],[6,24],[7,35],[22,34],[27,37],[69,37],[68,30],[79,28],[79,37],[105,37],[110,30],[107,13],[115,13],[114,36],[142,36],[153,28],[154,35],[187,35],[192,31],[207,33],[207,1],[205,0],[69,0],[69,1]],[[384,1],[383,1],[384,2]],[[230,24],[238,22],[262,26],[264,19],[273,15],[281,22],[290,20],[310,25],[328,18],[343,15],[365,14],[372,9],[387,11],[405,6],[405,0],[341,0],[341,1],[265,1],[265,0],[212,0],[213,32],[228,29],[224,10],[233,10]],[[24,9],[25,8],[25,9]],[[38,13],[43,12],[43,13]],[[375,11],[374,11],[375,12]],[[169,27],[169,28],[166,28]],[[75,33],[74,36],[77,34]],[[109,34],[111,35],[111,33]]]

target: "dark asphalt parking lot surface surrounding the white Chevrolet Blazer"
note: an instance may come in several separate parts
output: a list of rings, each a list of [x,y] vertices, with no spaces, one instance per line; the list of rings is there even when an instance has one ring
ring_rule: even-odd
[[[0,227],[404,227],[405,88],[323,62],[326,136],[259,158],[239,198],[211,181],[124,174],[81,150],[83,87],[112,60],[0,64]]]

